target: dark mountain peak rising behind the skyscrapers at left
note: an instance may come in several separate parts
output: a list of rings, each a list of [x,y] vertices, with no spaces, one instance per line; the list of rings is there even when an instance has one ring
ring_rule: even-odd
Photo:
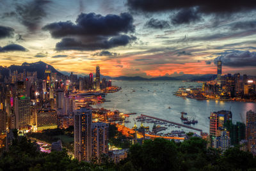
[[[23,63],[22,65],[14,65],[13,64],[13,65],[9,66],[8,68],[12,72],[17,70],[18,73],[23,72],[24,69],[29,72],[37,71],[37,77],[42,79],[42,78],[44,78],[44,72],[45,72],[46,65],[47,64],[44,62],[38,61],[36,63]],[[48,68],[52,71],[52,73],[57,73],[57,75],[59,75],[59,76],[63,75],[59,71],[55,70],[55,68],[49,64],[48,64]]]

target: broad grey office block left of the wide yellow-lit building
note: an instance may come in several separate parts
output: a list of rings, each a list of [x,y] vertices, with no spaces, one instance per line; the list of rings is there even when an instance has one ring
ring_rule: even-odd
[[[15,98],[16,129],[24,128],[30,124],[30,98],[20,96]]]

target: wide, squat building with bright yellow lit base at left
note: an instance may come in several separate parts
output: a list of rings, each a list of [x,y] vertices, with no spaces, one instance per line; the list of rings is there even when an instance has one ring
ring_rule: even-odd
[[[57,112],[52,109],[42,109],[37,113],[37,131],[56,129],[57,124]]]

